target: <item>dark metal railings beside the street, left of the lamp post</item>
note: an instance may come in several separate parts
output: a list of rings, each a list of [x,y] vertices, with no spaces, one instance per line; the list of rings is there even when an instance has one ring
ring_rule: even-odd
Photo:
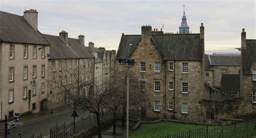
[[[100,122],[112,120],[113,116],[111,112],[103,112],[100,114]],[[87,117],[80,118],[75,123],[56,125],[50,129],[50,138],[67,138],[73,134],[79,133],[81,130],[85,130],[92,126],[97,125],[97,119],[95,114],[89,114]]]

